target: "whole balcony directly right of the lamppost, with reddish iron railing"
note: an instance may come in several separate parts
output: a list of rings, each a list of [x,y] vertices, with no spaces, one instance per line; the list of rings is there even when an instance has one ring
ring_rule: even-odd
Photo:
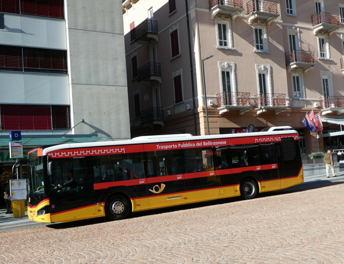
[[[242,115],[252,108],[250,93],[222,92],[216,94],[216,101],[220,115],[229,110],[239,110]]]

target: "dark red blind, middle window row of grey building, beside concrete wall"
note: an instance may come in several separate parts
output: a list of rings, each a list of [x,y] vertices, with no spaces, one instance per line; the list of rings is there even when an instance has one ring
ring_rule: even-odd
[[[24,68],[67,70],[67,51],[23,48]]]

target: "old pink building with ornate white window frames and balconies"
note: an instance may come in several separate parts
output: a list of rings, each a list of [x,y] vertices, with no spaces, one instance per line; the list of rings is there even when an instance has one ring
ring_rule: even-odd
[[[344,124],[342,1],[123,0],[122,12],[132,136],[291,125],[303,152],[344,148],[328,134]],[[311,110],[320,138],[301,123]]]

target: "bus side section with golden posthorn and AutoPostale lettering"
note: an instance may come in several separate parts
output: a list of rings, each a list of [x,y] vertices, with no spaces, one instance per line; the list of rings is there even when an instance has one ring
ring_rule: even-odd
[[[146,152],[150,209],[186,204],[181,150]]]

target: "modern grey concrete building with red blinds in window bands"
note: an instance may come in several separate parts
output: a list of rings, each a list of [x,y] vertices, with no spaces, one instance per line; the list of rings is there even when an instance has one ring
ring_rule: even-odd
[[[120,1],[0,0],[0,146],[129,139]],[[64,135],[66,134],[66,135]]]

